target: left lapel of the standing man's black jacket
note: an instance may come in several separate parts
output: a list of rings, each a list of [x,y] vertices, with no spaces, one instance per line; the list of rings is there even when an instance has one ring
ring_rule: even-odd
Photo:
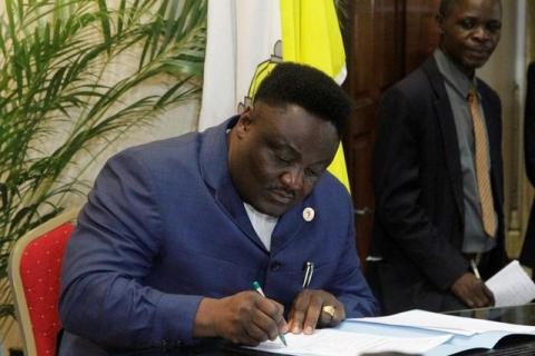
[[[424,63],[424,71],[429,78],[429,83],[434,90],[434,108],[438,117],[444,149],[446,152],[446,165],[449,172],[449,180],[455,195],[455,202],[459,210],[464,224],[464,196],[463,196],[463,174],[460,171],[460,152],[455,127],[451,105],[446,92],[444,78],[438,70],[435,59],[431,57]]]

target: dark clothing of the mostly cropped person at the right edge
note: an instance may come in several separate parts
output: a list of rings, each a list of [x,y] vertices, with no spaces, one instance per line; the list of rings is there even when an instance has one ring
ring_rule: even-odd
[[[535,187],[535,62],[527,69],[526,108],[524,111],[524,154],[527,178]],[[535,201],[527,222],[526,237],[522,248],[521,261],[535,267]]]

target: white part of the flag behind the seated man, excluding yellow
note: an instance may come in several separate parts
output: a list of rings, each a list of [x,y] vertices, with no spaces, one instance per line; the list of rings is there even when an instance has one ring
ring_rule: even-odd
[[[208,0],[200,131],[239,113],[256,68],[274,55],[280,21],[279,1]]]

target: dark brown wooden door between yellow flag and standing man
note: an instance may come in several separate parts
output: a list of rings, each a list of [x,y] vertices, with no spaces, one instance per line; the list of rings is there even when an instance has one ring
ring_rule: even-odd
[[[418,67],[438,42],[439,0],[353,0],[344,42],[346,88],[354,100],[343,138],[356,211],[357,249],[366,268],[373,226],[371,162],[376,112],[382,92]]]

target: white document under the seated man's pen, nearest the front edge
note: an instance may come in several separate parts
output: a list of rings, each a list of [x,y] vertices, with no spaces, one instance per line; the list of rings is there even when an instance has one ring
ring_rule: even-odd
[[[451,335],[389,337],[339,329],[318,329],[313,335],[285,334],[288,346],[276,339],[250,348],[275,354],[310,356],[358,356],[381,352],[421,354],[446,343],[450,337]]]

